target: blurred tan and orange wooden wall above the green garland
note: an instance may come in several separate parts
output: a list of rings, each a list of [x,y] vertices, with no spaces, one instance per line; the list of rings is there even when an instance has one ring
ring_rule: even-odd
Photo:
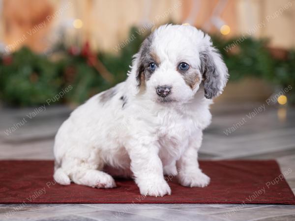
[[[0,10],[0,42],[11,51],[28,45],[43,52],[64,39],[69,45],[89,41],[95,50],[116,53],[131,26],[145,33],[169,21],[208,32],[226,24],[231,32],[225,37],[251,32],[270,38],[274,47],[295,47],[295,0],[2,0]],[[31,30],[36,31],[30,35]]]

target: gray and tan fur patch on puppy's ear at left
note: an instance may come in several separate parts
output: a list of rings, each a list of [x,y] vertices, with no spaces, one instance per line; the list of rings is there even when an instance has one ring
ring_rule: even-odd
[[[150,55],[150,46],[152,45],[153,41],[153,33],[151,33],[142,43],[140,50],[139,50],[139,65],[136,73],[136,80],[138,82],[138,86],[141,85],[142,77],[144,75],[145,80],[148,81],[150,79],[150,76],[152,75],[153,71],[149,69],[149,64],[151,62],[155,62],[155,64],[158,66],[159,64],[157,61],[152,58]]]

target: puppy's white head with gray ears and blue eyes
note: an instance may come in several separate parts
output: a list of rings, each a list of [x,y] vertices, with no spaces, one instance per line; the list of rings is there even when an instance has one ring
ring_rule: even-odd
[[[188,102],[203,84],[204,96],[222,93],[228,70],[210,37],[192,26],[165,25],[153,31],[134,56],[132,78],[156,102]],[[203,90],[202,88],[202,90]]]

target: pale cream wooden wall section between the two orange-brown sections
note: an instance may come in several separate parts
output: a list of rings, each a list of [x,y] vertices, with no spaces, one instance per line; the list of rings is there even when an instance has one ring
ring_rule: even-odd
[[[92,48],[112,50],[125,40],[131,26],[144,27],[147,34],[154,25],[179,21],[180,0],[88,0],[73,1],[84,21],[83,40]]]

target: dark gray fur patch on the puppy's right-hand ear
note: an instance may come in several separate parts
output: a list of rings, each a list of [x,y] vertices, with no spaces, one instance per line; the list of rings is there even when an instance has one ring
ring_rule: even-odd
[[[212,99],[220,92],[220,74],[216,70],[216,65],[210,52],[201,52],[200,60],[200,69],[204,78],[205,97],[207,99]]]

